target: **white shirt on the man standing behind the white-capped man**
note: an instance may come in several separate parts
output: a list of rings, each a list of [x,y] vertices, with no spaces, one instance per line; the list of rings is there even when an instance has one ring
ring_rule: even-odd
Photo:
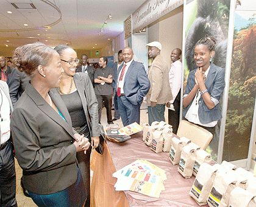
[[[169,71],[169,83],[172,93],[172,100],[169,102],[173,103],[180,91],[182,84],[182,62],[180,60],[177,60],[171,64],[171,69]]]

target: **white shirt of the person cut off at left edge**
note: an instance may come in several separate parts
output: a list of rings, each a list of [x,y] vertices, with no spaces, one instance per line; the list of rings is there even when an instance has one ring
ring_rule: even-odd
[[[10,138],[10,103],[5,96],[4,91],[0,88],[0,126],[1,126],[1,144],[8,141]]]

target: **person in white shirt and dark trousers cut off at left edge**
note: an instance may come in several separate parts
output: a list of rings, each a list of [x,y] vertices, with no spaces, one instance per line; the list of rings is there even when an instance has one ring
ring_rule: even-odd
[[[16,174],[10,141],[10,113],[12,102],[7,83],[0,80],[0,206],[17,206]]]

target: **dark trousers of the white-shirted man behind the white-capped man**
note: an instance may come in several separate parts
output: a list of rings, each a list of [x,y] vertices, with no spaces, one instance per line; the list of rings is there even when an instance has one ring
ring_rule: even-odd
[[[177,135],[180,124],[180,91],[173,102],[174,110],[168,110],[168,124],[172,125],[172,132]]]

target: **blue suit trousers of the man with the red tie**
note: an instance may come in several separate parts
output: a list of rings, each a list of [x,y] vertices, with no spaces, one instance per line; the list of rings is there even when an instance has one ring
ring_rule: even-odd
[[[140,124],[140,104],[133,105],[125,96],[117,97],[117,102],[124,127],[134,122]]]

